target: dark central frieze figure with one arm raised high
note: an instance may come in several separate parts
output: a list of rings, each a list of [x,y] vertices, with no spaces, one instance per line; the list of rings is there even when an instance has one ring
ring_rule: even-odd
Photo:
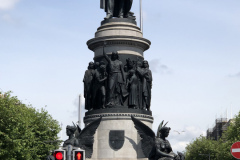
[[[118,59],[118,52],[112,52],[111,59],[106,55],[103,48],[103,55],[109,65],[109,81],[108,81],[108,105],[123,105],[123,89],[125,85],[125,77],[123,73],[123,64]]]

